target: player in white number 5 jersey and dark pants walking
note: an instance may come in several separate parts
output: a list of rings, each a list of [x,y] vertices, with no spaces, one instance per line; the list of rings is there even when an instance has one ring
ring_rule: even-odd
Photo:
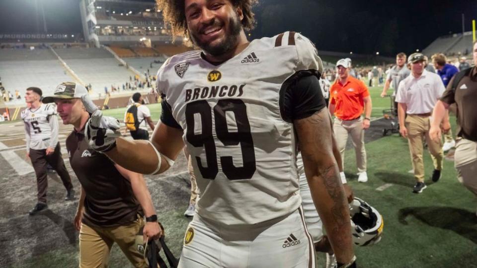
[[[30,210],[30,215],[48,207],[46,201],[48,164],[56,170],[66,188],[65,200],[73,200],[75,196],[70,174],[61,157],[56,107],[52,104],[42,104],[40,101],[41,95],[40,88],[27,88],[25,101],[30,104],[30,107],[23,110],[20,115],[25,124],[26,155],[31,159],[38,187],[38,202]]]

